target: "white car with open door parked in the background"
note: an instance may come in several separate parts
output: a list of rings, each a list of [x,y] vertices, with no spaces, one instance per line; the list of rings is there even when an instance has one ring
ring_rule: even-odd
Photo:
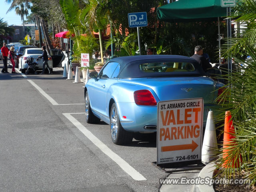
[[[27,48],[27,49],[25,49],[22,56],[20,56],[20,58],[19,58],[19,70],[22,73],[25,73],[27,68],[28,68],[28,64],[26,63],[26,60],[28,59],[28,57],[33,57],[34,62],[36,62],[36,59],[38,58],[38,56],[41,56],[42,53],[43,53],[43,51],[42,51],[41,48]],[[36,65],[36,70],[42,70],[43,69],[43,59],[40,58],[37,61],[37,64],[38,65]],[[52,57],[49,55],[49,53],[48,53],[48,65],[52,70],[53,62],[52,62]],[[46,66],[45,66],[45,68],[46,68]]]

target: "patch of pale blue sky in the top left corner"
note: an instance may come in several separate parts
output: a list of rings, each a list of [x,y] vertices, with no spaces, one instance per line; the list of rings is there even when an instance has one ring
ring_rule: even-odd
[[[6,21],[8,25],[21,25],[22,22],[21,22],[20,16],[16,15],[15,10],[12,10],[6,14],[11,4],[6,3],[5,0],[0,0],[0,2],[2,2],[1,10],[0,10],[0,18],[3,19],[4,22]]]

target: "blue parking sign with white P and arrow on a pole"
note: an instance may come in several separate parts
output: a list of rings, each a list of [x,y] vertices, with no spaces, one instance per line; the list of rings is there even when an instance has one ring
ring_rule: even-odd
[[[148,26],[146,12],[128,13],[129,27],[144,27]]]

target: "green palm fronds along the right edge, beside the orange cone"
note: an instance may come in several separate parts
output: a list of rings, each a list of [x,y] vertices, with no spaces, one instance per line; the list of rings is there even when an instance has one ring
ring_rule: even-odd
[[[256,182],[256,2],[255,0],[239,0],[234,8],[233,18],[236,22],[246,26],[237,38],[231,39],[231,47],[226,44],[222,50],[224,56],[234,58],[238,65],[238,72],[228,75],[230,83],[219,96],[222,106],[229,109],[235,128],[235,138],[227,158],[222,158],[223,150],[218,150],[221,164],[228,160],[242,156],[242,168],[246,177]],[[250,59],[244,59],[250,55]],[[246,67],[245,67],[246,66]],[[235,144],[234,144],[235,143]],[[235,169],[222,169],[221,173],[231,177]],[[241,169],[238,169],[241,171]]]

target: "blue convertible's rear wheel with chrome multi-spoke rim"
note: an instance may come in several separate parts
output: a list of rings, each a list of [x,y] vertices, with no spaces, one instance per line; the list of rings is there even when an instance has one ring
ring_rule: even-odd
[[[132,132],[124,130],[120,123],[116,103],[112,104],[110,111],[110,134],[112,142],[116,145],[130,144],[132,142]]]

